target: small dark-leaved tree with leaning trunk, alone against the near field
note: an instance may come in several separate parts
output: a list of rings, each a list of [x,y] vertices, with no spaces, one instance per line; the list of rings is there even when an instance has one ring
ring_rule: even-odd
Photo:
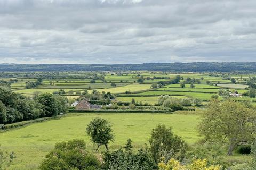
[[[94,118],[86,128],[87,134],[91,137],[93,143],[98,144],[97,150],[101,145],[105,145],[108,150],[109,141],[114,141],[114,134],[111,133],[111,124],[108,120],[103,118]]]

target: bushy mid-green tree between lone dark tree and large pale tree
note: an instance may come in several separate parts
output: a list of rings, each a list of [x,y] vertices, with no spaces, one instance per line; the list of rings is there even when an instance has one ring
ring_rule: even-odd
[[[188,147],[185,141],[173,134],[172,128],[161,124],[152,130],[149,143],[149,151],[155,163],[158,163],[161,157],[183,159]]]

